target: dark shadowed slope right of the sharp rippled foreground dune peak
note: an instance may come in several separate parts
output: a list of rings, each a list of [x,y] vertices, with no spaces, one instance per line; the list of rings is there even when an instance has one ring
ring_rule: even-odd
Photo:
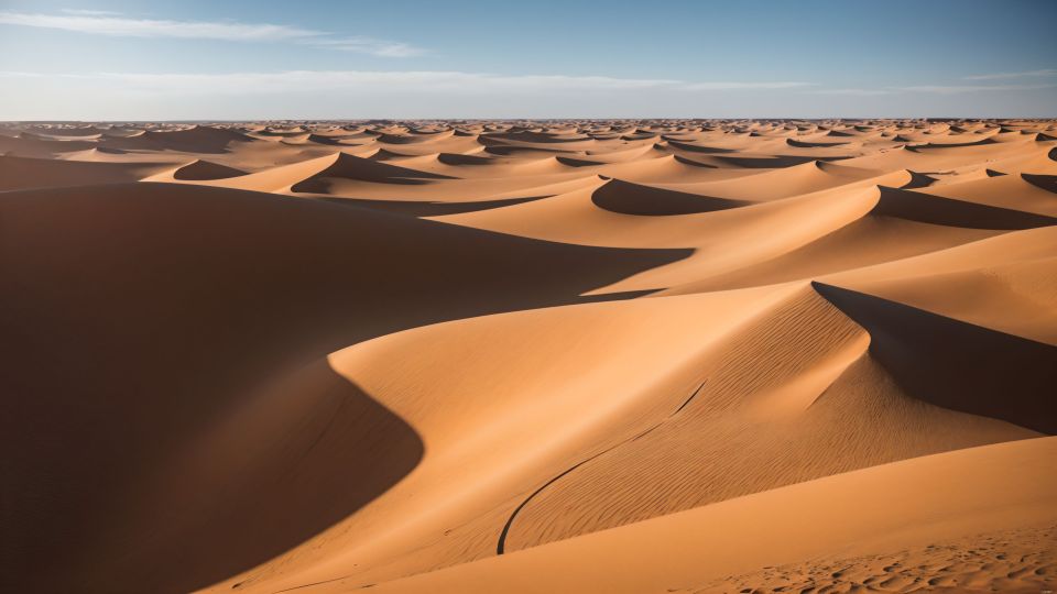
[[[1057,346],[813,282],[870,333],[870,353],[907,394],[1057,433]]]

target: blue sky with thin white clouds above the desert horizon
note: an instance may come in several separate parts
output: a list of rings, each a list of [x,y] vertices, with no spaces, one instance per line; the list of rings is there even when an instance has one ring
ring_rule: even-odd
[[[0,0],[0,120],[1053,118],[1055,0]]]

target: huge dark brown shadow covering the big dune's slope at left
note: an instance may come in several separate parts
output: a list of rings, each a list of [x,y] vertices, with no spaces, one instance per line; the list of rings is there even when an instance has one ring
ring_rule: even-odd
[[[15,592],[189,591],[303,542],[422,455],[327,353],[636,297],[585,294],[691,253],[184,184],[10,191],[0,219],[0,590]]]

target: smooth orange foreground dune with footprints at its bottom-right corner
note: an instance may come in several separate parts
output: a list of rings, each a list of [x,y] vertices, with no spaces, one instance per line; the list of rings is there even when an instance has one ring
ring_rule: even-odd
[[[961,546],[982,552],[985,561],[999,562],[990,573],[977,570],[983,575],[972,575],[983,578],[973,584],[982,585],[981,590],[1021,584],[1045,588],[1053,581],[1048,568],[1054,558],[1050,538],[1057,519],[1053,506],[1057,486],[1047,469],[1055,453],[1055,441],[1047,438],[908,460],[375,587],[378,592],[729,592],[737,584],[739,591],[751,591],[789,588],[794,580],[784,574],[789,565],[820,569],[833,563],[836,571],[807,586],[843,583],[865,588],[869,575],[848,571],[858,569],[849,562],[854,559],[876,566],[879,573],[903,575],[909,583],[896,581],[891,590],[911,592],[925,584],[968,581],[968,575],[950,578],[939,571],[939,563],[928,563],[930,556],[938,557],[934,549]],[[1004,488],[988,491],[981,484]],[[1018,550],[1029,554],[1014,557]],[[839,553],[836,562],[833,552]],[[892,558],[900,558],[900,564],[885,572],[885,561]],[[1014,571],[1001,571],[1001,561],[1006,560]],[[944,582],[929,584],[936,578]],[[320,584],[319,591],[351,587],[352,583],[336,581]]]

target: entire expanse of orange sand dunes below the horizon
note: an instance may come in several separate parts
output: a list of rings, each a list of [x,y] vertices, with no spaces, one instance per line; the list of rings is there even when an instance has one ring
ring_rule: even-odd
[[[1053,590],[1055,139],[0,124],[0,590]]]

